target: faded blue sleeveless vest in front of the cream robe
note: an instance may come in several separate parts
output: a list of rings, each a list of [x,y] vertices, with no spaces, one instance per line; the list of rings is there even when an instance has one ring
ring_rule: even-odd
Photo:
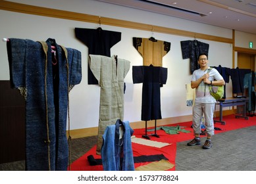
[[[116,120],[116,124],[107,126],[101,149],[104,171],[134,171],[133,133],[128,121]]]

